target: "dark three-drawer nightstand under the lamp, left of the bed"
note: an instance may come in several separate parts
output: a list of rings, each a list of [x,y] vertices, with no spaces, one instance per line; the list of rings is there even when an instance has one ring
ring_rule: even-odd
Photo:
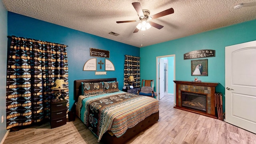
[[[66,100],[62,100],[59,102],[51,102],[51,116],[50,116],[51,128],[63,126],[67,123],[66,112],[67,112]]]

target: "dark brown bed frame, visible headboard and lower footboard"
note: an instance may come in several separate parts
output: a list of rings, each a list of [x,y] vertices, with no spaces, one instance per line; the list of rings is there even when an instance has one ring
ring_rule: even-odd
[[[76,98],[76,102],[78,97],[82,94],[82,86],[81,82],[111,82],[116,81],[116,78],[101,78],[101,79],[90,79],[90,80],[75,80],[74,81],[74,96]],[[108,131],[100,140],[103,143],[107,144],[123,144],[124,142],[130,140],[136,134],[140,133],[144,129],[148,128],[159,119],[159,111],[157,113],[151,114],[143,121],[139,122],[136,126],[129,128],[126,132],[119,138],[112,134],[112,132]]]

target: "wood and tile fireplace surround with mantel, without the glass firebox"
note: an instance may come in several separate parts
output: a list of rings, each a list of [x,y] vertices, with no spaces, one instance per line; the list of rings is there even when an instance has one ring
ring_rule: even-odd
[[[181,110],[186,110],[188,112],[194,112],[204,116],[209,116],[211,118],[217,118],[215,114],[215,87],[218,85],[218,82],[196,82],[196,81],[181,81],[174,80],[176,84],[176,106]],[[206,112],[200,112],[197,110],[192,110],[189,108],[182,107],[181,93],[182,92],[193,92],[198,94],[206,94],[207,106]]]

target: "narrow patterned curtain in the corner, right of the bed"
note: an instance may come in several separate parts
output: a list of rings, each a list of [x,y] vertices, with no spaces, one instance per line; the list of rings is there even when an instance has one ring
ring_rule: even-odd
[[[140,88],[140,57],[125,55],[124,60],[124,86],[128,86],[129,76],[133,76],[134,88]]]

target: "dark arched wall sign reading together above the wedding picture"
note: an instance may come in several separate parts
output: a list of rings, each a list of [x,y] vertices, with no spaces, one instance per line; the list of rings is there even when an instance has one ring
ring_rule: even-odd
[[[215,50],[194,50],[184,54],[184,60],[215,57]]]

